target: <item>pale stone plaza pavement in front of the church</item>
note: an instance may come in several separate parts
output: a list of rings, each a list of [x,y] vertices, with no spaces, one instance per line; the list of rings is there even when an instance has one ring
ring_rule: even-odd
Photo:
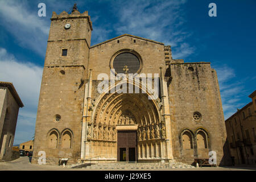
[[[94,171],[91,168],[70,168],[71,166],[49,166],[31,164],[27,156],[21,156],[19,159],[11,162],[0,162],[0,171]],[[113,169],[100,169],[101,171],[113,171]],[[114,171],[130,171],[131,169],[114,169]],[[240,167],[202,167],[202,168],[177,168],[177,169],[132,169],[132,171],[256,171],[256,166]]]

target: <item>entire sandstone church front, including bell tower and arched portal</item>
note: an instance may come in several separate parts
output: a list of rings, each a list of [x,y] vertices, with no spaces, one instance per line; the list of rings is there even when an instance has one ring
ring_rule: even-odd
[[[32,163],[177,160],[191,164],[226,140],[216,71],[210,63],[172,59],[171,46],[121,35],[90,46],[88,11],[52,14],[36,118]],[[110,69],[115,69],[115,73]],[[101,73],[146,75],[115,80],[99,93]],[[142,74],[143,73],[143,74]],[[158,97],[143,85],[159,82]],[[154,77],[158,74],[159,77]],[[137,75],[137,76],[138,76]],[[125,84],[133,86],[123,93]],[[115,89],[116,92],[109,92]]]

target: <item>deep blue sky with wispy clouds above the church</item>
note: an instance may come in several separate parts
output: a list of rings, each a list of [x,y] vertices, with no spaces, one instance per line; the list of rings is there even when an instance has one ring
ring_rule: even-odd
[[[46,4],[46,17],[38,4]],[[216,3],[217,17],[208,16]],[[14,144],[32,139],[52,11],[77,3],[89,11],[92,44],[122,34],[163,42],[174,59],[210,61],[220,84],[225,119],[256,89],[256,1],[3,1],[0,0],[0,80],[13,82],[24,107]]]

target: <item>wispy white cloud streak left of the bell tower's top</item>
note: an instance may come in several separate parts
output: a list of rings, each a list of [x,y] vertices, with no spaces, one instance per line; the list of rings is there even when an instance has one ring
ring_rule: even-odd
[[[0,22],[15,36],[20,46],[45,56],[49,18],[40,18],[37,11],[27,7],[26,1],[0,1]]]

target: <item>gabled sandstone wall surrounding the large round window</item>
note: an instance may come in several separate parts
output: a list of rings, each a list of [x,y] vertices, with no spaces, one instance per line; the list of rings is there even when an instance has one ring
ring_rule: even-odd
[[[93,80],[97,80],[100,73],[106,73],[110,77],[110,60],[121,50],[132,50],[141,56],[141,73],[160,73],[160,67],[166,67],[162,43],[125,35],[90,48],[89,69],[93,69]]]

